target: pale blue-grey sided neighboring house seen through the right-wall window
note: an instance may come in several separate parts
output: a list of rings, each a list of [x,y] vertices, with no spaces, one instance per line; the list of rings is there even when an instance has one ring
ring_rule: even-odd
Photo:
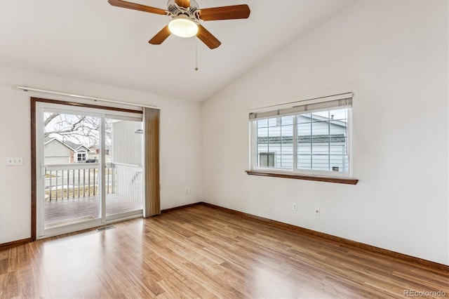
[[[260,121],[257,130],[257,165],[292,168],[291,117]],[[302,114],[298,120],[297,147],[297,167],[300,169],[347,171],[347,124],[344,121]]]

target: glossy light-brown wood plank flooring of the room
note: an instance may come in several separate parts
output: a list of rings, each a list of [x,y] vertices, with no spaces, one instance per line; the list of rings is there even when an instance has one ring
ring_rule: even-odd
[[[0,250],[0,298],[447,298],[448,283],[442,270],[202,205]]]

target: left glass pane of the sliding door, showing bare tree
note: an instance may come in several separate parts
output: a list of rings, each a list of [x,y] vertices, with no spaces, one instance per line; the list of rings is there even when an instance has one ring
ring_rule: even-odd
[[[43,109],[44,229],[100,214],[100,117]]]

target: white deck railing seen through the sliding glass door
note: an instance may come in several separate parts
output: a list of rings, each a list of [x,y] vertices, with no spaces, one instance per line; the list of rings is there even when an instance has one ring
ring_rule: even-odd
[[[46,164],[46,200],[74,199],[98,194],[98,163]],[[142,167],[107,163],[106,194],[116,193],[142,203]]]

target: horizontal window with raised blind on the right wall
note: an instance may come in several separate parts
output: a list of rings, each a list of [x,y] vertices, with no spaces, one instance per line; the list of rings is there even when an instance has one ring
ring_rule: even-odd
[[[250,113],[252,170],[350,176],[351,105],[346,93]]]

